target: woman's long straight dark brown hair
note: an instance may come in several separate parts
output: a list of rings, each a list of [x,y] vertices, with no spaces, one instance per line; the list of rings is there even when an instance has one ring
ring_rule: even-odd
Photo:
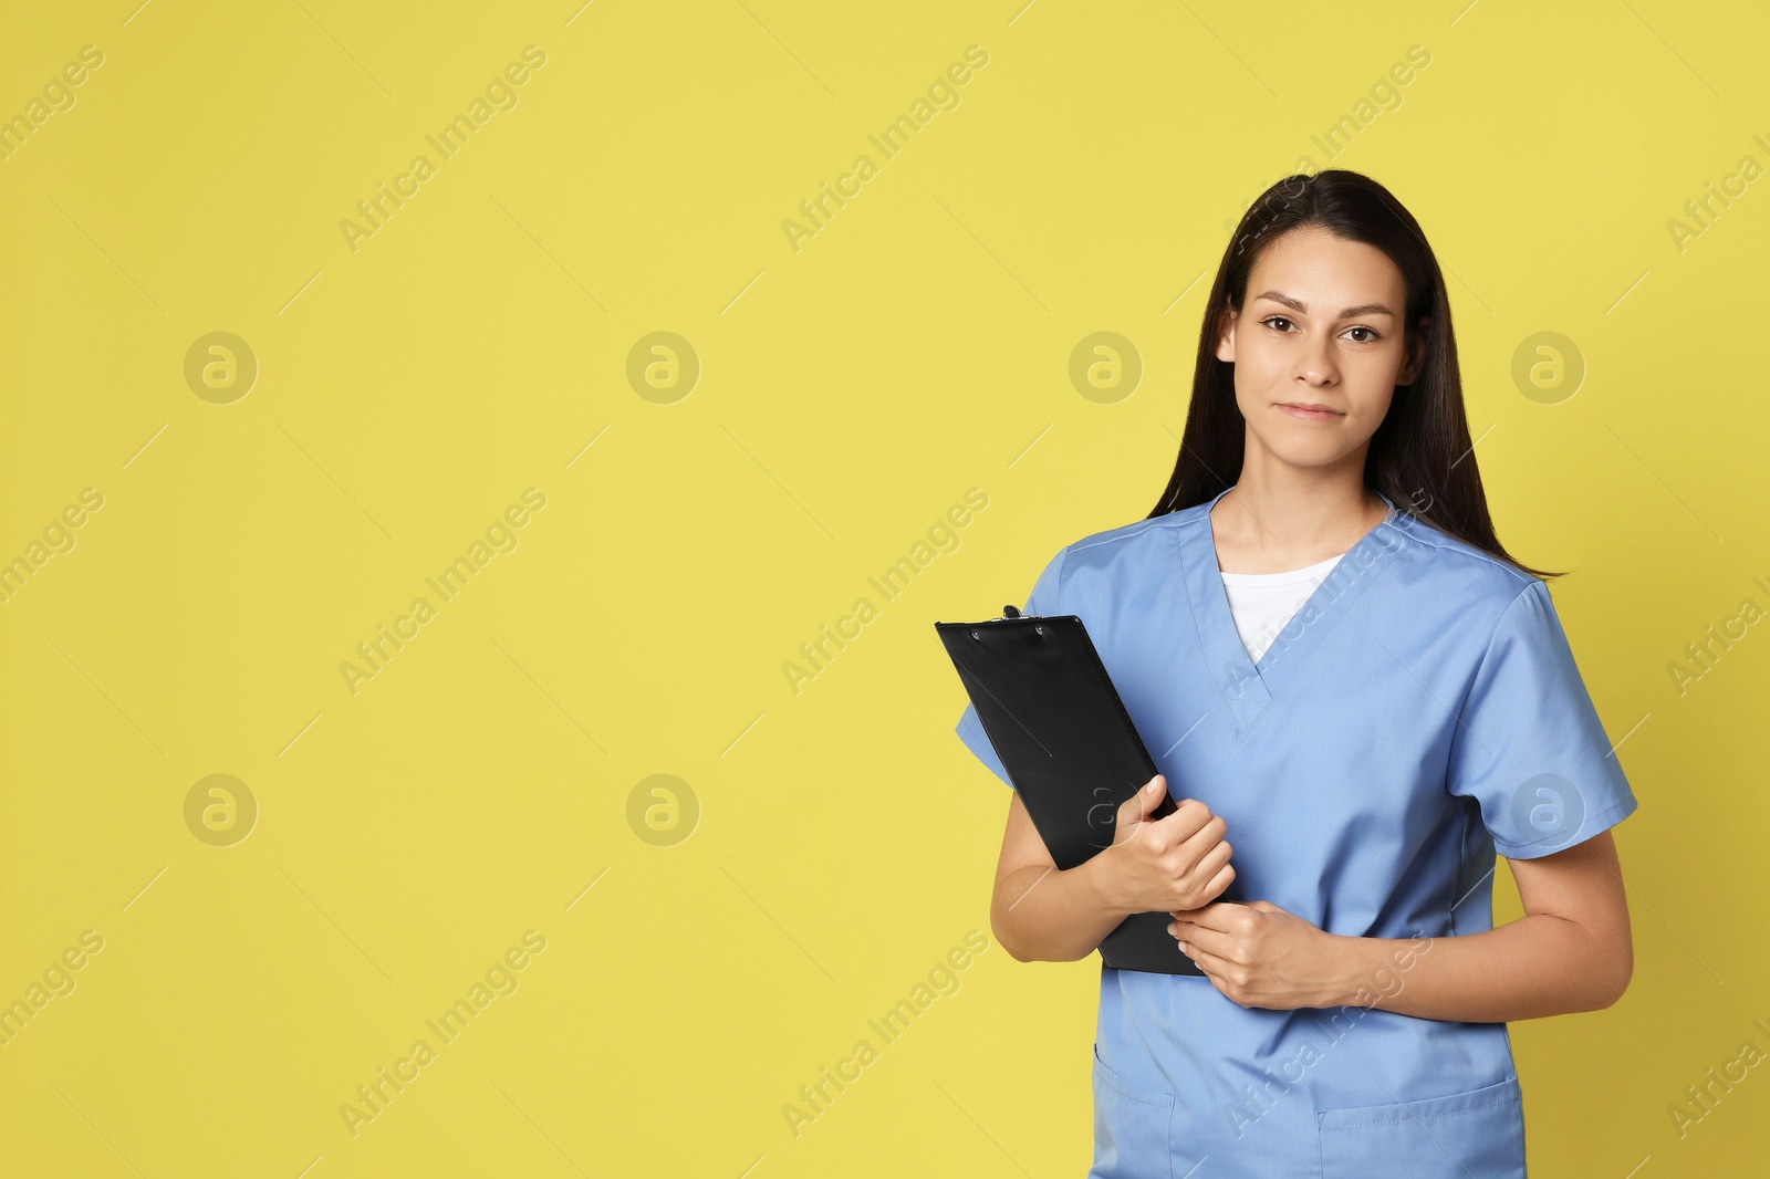
[[[1248,297],[1248,274],[1266,248],[1280,234],[1308,225],[1389,255],[1407,289],[1404,333],[1425,333],[1425,359],[1414,382],[1395,386],[1389,412],[1370,437],[1365,485],[1388,496],[1402,512],[1526,574],[1561,577],[1520,565],[1494,535],[1462,405],[1450,299],[1432,246],[1389,189],[1343,168],[1287,175],[1266,189],[1235,227],[1205,301],[1181,453],[1168,489],[1149,517],[1200,505],[1241,478],[1246,423],[1235,407],[1235,366],[1216,358],[1218,338],[1230,308],[1239,315]],[[1421,329],[1421,319],[1428,315],[1430,324]]]

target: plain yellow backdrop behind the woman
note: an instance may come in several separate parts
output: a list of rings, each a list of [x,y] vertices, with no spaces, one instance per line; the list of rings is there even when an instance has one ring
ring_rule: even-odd
[[[991,944],[800,1135],[782,1105],[989,929],[1009,795],[931,623],[1149,512],[1228,225],[1310,158],[1425,225],[1501,536],[1577,570],[1554,597],[1627,735],[1635,979],[1513,1025],[1533,1168],[1751,1174],[1770,1078],[1683,1137],[1667,1106],[1770,1050],[1770,637],[1683,694],[1667,667],[1770,605],[1770,193],[1682,251],[1667,221],[1770,163],[1766,32],[1662,0],[14,16],[0,115],[104,64],[0,163],[0,558],[104,505],[0,604],[0,1000],[104,949],[0,1048],[4,1170],[1081,1174],[1097,958]],[[517,106],[352,251],[340,221],[529,44]],[[972,44],[959,106],[881,159]],[[212,331],[258,361],[227,405],[184,379]],[[627,377],[657,331],[701,363],[674,404]],[[1094,331],[1143,359],[1117,404],[1067,377]],[[1538,331],[1588,365],[1552,405],[1510,375]],[[527,487],[517,549],[352,694],[356,644]],[[970,487],[961,543],[791,690]],[[260,807],[234,846],[186,827],[211,774]],[[653,774],[699,805],[674,846],[628,820]],[[340,1105],[527,929],[519,990],[352,1137]]]

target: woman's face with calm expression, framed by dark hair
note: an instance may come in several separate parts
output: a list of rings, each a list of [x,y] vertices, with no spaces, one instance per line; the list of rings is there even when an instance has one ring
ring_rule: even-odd
[[[1273,239],[1216,351],[1235,365],[1250,450],[1296,467],[1354,458],[1363,469],[1395,386],[1412,382],[1425,352],[1418,333],[1402,338],[1405,303],[1402,273],[1375,246],[1313,225]]]

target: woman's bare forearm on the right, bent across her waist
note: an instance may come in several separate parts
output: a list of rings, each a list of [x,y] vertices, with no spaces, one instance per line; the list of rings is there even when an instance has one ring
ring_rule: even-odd
[[[1324,1007],[1379,1007],[1427,1020],[1510,1023],[1614,1004],[1634,968],[1618,945],[1552,913],[1444,938],[1336,936]]]

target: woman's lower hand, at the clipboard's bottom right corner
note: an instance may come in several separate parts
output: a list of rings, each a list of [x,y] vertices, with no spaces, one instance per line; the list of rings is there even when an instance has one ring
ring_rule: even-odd
[[[1211,984],[1243,1007],[1331,1007],[1345,938],[1271,901],[1211,901],[1175,910],[1168,933]]]

